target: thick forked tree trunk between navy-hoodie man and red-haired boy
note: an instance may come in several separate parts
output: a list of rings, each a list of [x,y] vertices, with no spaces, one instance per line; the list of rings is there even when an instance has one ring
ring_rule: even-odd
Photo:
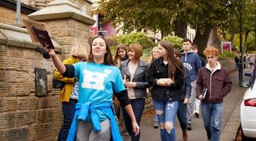
[[[203,34],[200,33],[200,27],[198,27],[198,29],[196,30],[196,36],[193,40],[193,44],[196,44],[198,46],[199,54],[203,54],[203,50],[205,50],[205,47],[207,46],[210,31],[212,30],[212,28],[212,25],[207,25]]]

